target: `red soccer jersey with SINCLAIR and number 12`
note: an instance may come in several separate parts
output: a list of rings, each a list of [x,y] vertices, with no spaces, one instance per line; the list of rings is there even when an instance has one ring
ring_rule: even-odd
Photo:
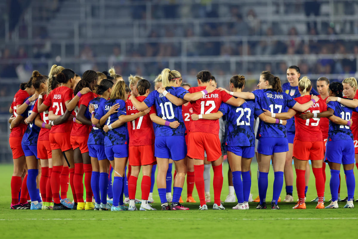
[[[190,93],[205,90],[204,86],[192,87],[188,91]],[[232,96],[225,91],[214,90],[210,94],[201,97],[199,100],[190,102],[193,106],[194,114],[210,114],[216,113],[220,107],[221,102],[228,101]],[[219,134],[219,120],[204,120],[190,121],[190,132],[203,132],[211,134]]]

